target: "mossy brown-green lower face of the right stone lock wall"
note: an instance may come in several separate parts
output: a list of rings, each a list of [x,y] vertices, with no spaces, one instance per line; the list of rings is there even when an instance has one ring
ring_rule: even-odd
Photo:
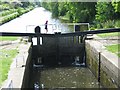
[[[96,78],[98,78],[98,60],[96,57],[92,57],[91,53],[87,51],[87,66],[93,72]],[[101,67],[100,69],[100,81],[105,88],[117,88],[117,85],[112,82],[111,78]]]

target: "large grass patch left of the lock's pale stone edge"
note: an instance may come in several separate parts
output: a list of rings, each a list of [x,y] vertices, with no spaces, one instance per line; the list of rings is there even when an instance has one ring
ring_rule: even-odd
[[[17,55],[17,52],[17,49],[0,50],[0,86],[7,79],[12,59]]]

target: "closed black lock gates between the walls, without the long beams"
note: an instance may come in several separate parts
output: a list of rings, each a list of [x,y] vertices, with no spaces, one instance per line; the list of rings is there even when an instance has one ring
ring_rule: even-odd
[[[41,45],[32,46],[34,66],[85,65],[85,36],[56,33],[41,38]]]

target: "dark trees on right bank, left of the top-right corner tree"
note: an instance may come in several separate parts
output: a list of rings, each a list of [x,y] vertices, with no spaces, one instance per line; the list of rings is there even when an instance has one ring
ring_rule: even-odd
[[[68,16],[70,22],[91,22],[95,17],[95,2],[43,2],[42,6],[55,17]]]

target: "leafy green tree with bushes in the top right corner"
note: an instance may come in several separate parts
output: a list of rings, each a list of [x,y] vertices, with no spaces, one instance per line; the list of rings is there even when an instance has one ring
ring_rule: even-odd
[[[97,2],[96,4],[96,28],[119,27],[120,13],[115,11],[115,6],[111,2]],[[116,23],[116,21],[118,21]]]

